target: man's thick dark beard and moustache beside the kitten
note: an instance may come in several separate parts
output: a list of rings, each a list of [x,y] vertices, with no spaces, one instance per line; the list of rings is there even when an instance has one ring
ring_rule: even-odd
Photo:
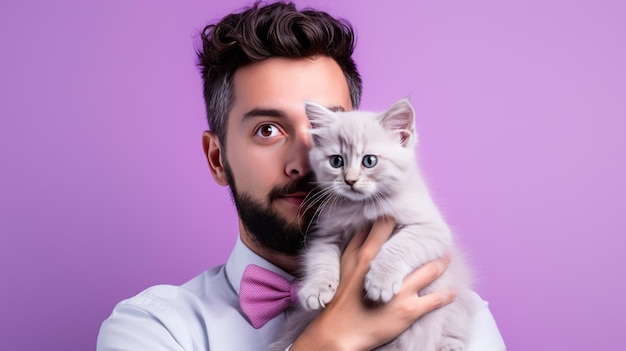
[[[298,210],[298,221],[288,222],[273,208],[272,203],[281,196],[313,190],[313,174],[308,173],[302,178],[285,185],[273,187],[267,195],[267,201],[255,199],[247,193],[240,193],[235,186],[235,179],[228,163],[224,165],[226,181],[230,186],[231,195],[237,213],[250,237],[270,250],[287,255],[297,255],[306,245],[307,234],[315,227],[315,209],[306,206],[306,202]]]

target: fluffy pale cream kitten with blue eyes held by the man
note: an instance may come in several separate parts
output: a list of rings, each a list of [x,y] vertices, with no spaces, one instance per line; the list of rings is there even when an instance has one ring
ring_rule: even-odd
[[[332,112],[307,103],[306,112],[313,136],[310,164],[321,189],[309,202],[320,206],[320,215],[302,256],[298,295],[303,306],[288,317],[289,330],[272,349],[284,350],[332,300],[350,238],[375,219],[390,216],[396,232],[371,263],[367,298],[389,301],[407,274],[446,253],[451,255],[448,269],[420,294],[454,288],[457,298],[378,350],[463,350],[473,308],[470,272],[420,175],[413,107],[405,99],[378,114]]]

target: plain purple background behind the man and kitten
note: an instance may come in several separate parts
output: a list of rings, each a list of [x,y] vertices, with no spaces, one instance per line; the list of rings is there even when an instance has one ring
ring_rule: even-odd
[[[0,3],[0,344],[89,350],[116,302],[223,262],[192,43],[247,1]],[[623,1],[301,1],[409,96],[510,350],[626,348]]]

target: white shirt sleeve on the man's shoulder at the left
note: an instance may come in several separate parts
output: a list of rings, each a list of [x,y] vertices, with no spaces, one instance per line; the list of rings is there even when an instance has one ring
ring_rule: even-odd
[[[147,291],[115,306],[100,327],[96,350],[191,350],[184,325],[175,310]]]

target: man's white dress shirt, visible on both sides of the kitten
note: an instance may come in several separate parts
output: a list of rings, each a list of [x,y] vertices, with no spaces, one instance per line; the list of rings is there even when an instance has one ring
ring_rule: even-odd
[[[100,328],[98,351],[265,350],[280,333],[283,312],[254,329],[239,307],[239,282],[248,264],[293,276],[237,240],[225,265],[209,269],[181,286],[156,285],[120,302]],[[473,317],[468,351],[505,350],[488,304]]]

